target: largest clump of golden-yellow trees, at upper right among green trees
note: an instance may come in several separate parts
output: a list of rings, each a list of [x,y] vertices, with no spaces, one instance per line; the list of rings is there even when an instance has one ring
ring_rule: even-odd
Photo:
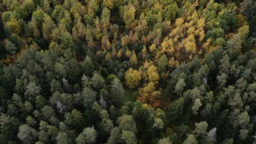
[[[196,11],[185,18],[176,19],[174,26],[161,43],[163,53],[178,61],[186,61],[207,50],[209,41],[205,40],[205,19]]]

